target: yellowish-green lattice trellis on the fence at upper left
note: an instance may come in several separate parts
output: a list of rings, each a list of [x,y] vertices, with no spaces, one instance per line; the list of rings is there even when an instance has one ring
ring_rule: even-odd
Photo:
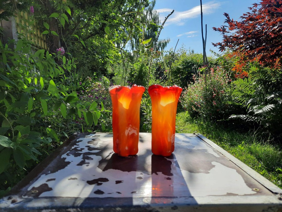
[[[20,12],[17,14],[16,26],[18,33],[26,34],[27,39],[31,40],[36,48],[48,50],[46,36],[40,33],[36,21],[34,21],[32,26],[29,26],[28,20],[29,17],[27,13]]]

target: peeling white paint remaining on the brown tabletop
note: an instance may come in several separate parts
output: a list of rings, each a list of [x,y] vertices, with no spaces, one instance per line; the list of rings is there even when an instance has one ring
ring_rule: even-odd
[[[149,133],[142,136],[144,140],[147,140]],[[87,142],[97,139],[97,144],[88,144]],[[245,195],[254,194],[252,188],[249,188],[243,177],[238,174],[235,169],[223,166],[218,162],[211,162],[214,166],[209,173],[190,173],[185,170],[180,170],[177,166],[176,159],[167,159],[171,161],[170,167],[172,176],[164,175],[162,172],[151,174],[151,156],[148,155],[145,158],[147,173],[140,171],[120,171],[115,169],[107,169],[102,171],[98,168],[99,161],[102,160],[101,156],[87,155],[93,160],[85,160],[86,163],[82,166],[77,166],[83,160],[83,153],[97,153],[101,150],[103,142],[109,144],[112,140],[112,134],[91,134],[86,138],[78,139],[76,145],[74,145],[70,151],[62,155],[61,158],[65,158],[65,161],[70,162],[65,168],[47,175],[41,175],[39,179],[29,186],[28,190],[33,187],[39,187],[46,183],[51,191],[41,193],[39,197],[192,197],[208,195],[226,195],[227,193]],[[204,141],[196,136],[191,138],[178,134],[175,137],[177,144],[187,146],[188,149],[205,149],[209,154],[216,157],[220,157],[215,150],[213,150]],[[96,148],[88,150],[87,147]],[[81,155],[75,157],[71,154],[73,149],[76,148],[77,153]],[[148,149],[139,149],[138,155],[143,155]],[[109,157],[112,156],[111,152],[106,152]],[[70,179],[72,178],[72,179]],[[98,178],[106,178],[105,182],[101,185],[90,185],[87,181],[91,181]],[[46,182],[48,179],[55,179]],[[120,183],[116,183],[116,181]],[[96,192],[96,193],[94,193]],[[27,198],[27,197],[26,197]],[[134,204],[134,202],[133,202]]]

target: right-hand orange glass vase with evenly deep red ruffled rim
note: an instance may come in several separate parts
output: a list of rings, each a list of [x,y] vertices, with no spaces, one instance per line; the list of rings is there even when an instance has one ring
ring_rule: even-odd
[[[174,85],[151,85],[148,89],[152,100],[152,152],[170,156],[174,151],[175,118],[182,88]]]

